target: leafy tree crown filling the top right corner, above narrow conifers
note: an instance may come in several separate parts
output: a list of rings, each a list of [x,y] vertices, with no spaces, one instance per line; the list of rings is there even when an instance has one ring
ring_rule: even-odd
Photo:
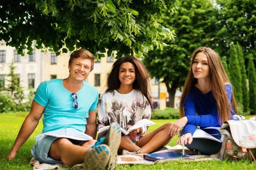
[[[244,56],[256,56],[256,0],[216,0],[218,33],[216,48],[221,56],[227,55],[232,42],[244,49]],[[247,62],[246,62],[247,63]]]

